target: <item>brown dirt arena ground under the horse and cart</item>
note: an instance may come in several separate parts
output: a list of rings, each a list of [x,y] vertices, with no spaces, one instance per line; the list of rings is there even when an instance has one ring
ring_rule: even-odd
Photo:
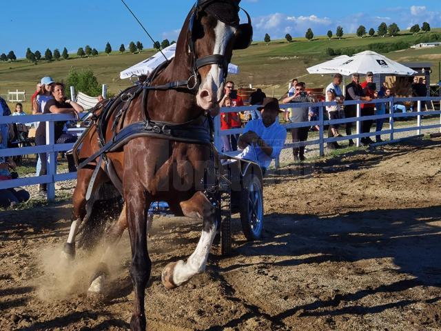
[[[149,330],[441,330],[441,139],[291,166],[265,179],[265,234],[176,290],[161,270],[201,225],[155,219]],[[127,234],[105,301],[85,296],[94,259],[58,263],[70,205],[1,212],[0,330],[127,330]],[[62,275],[62,276],[61,276]]]

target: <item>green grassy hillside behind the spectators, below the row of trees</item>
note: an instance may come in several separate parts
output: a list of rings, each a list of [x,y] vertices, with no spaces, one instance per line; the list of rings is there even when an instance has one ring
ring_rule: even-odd
[[[441,29],[433,29],[440,32]],[[268,45],[264,42],[255,42],[247,50],[234,52],[232,62],[239,66],[240,74],[229,78],[236,82],[237,86],[263,88],[271,95],[280,97],[287,90],[288,82],[298,77],[305,81],[310,88],[324,87],[331,80],[329,76],[322,77],[320,74],[308,74],[306,68],[314,66],[322,61],[330,59],[326,54],[327,48],[354,48],[369,43],[391,43],[404,41],[414,43],[421,34],[414,36],[404,31],[396,37],[356,37],[346,34],[342,39],[316,37],[312,41],[305,38],[294,38],[291,43],[285,40],[271,41]],[[81,70],[93,70],[100,83],[106,83],[109,91],[119,92],[130,86],[130,81],[119,79],[119,72],[135,63],[147,59],[154,54],[154,50],[144,50],[141,54],[121,54],[112,52],[109,56],[101,53],[96,57],[80,59],[76,55],[70,55],[70,59],[61,61],[40,61],[37,65],[29,63],[25,59],[19,59],[14,63],[0,62],[0,94],[4,96],[8,90],[26,90],[28,98],[34,92],[34,87],[41,77],[50,75],[57,81],[64,81],[71,67]],[[441,61],[441,47],[420,50],[401,50],[384,54],[396,61],[430,61],[434,64],[432,82],[437,82],[438,61]],[[30,104],[25,103],[25,111],[30,110]]]

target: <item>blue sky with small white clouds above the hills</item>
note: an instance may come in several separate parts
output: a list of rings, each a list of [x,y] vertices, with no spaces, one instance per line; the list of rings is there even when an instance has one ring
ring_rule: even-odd
[[[126,2],[154,39],[172,41],[194,0]],[[286,33],[304,36],[307,28],[315,34],[335,33],[338,25],[347,33],[355,32],[360,24],[376,29],[382,21],[396,22],[402,29],[423,21],[441,27],[440,0],[242,0],[241,6],[252,16],[254,40],[263,40],[265,33],[271,39]],[[114,50],[121,43],[127,46],[138,40],[152,47],[120,0],[58,0],[40,7],[31,0],[4,1],[1,9],[0,53],[14,50],[17,57],[23,57],[28,47],[41,53],[63,47],[76,52],[86,44],[104,50],[107,41]]]

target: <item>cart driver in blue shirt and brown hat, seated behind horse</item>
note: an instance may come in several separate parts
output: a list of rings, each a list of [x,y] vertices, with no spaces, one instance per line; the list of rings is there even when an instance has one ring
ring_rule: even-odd
[[[262,112],[262,119],[249,121],[245,126],[238,141],[243,152],[238,157],[258,163],[265,175],[271,160],[276,159],[285,146],[287,130],[276,120],[283,112],[276,98],[265,98],[258,110]]]

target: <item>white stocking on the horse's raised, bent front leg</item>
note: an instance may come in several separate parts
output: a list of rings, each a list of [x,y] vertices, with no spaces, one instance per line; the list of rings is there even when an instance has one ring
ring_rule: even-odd
[[[187,262],[181,260],[176,263],[173,272],[173,282],[176,285],[182,285],[195,274],[205,271],[209,250],[212,247],[215,236],[216,224],[212,225],[208,232],[202,232],[196,250],[194,250]]]

